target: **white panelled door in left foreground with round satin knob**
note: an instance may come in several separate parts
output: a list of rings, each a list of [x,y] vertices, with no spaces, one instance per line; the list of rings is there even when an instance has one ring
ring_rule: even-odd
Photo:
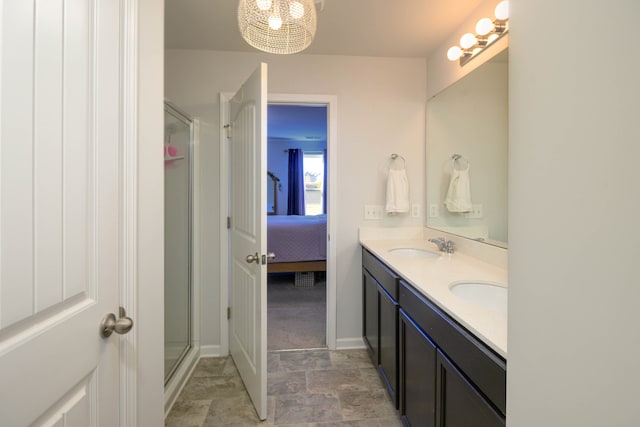
[[[0,7],[0,425],[115,426],[123,12]]]

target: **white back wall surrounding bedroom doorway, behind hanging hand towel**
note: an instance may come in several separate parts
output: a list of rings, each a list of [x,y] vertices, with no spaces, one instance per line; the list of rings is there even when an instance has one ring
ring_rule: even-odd
[[[166,52],[165,96],[201,118],[201,250],[203,346],[219,335],[218,93],[234,91],[260,61],[269,64],[270,93],[338,98],[337,338],[359,339],[361,258],[358,227],[365,204],[384,203],[391,153],[407,159],[411,197],[424,206],[425,59],[179,51]],[[385,225],[422,225],[399,217]],[[367,223],[372,223],[368,221]],[[345,344],[346,345],[346,344]]]

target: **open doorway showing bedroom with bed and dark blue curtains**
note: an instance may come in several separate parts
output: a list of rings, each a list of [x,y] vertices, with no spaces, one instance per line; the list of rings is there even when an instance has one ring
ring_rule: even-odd
[[[269,351],[327,347],[327,110],[268,106]]]

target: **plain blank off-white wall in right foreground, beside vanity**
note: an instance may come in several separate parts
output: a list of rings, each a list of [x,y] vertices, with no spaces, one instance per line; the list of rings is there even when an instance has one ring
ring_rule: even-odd
[[[640,2],[511,13],[509,425],[637,426]]]

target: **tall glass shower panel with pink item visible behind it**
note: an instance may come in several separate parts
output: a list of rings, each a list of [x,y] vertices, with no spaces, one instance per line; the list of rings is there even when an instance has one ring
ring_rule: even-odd
[[[164,378],[167,386],[183,360],[193,353],[194,344],[194,120],[170,103],[165,103],[164,111]]]

